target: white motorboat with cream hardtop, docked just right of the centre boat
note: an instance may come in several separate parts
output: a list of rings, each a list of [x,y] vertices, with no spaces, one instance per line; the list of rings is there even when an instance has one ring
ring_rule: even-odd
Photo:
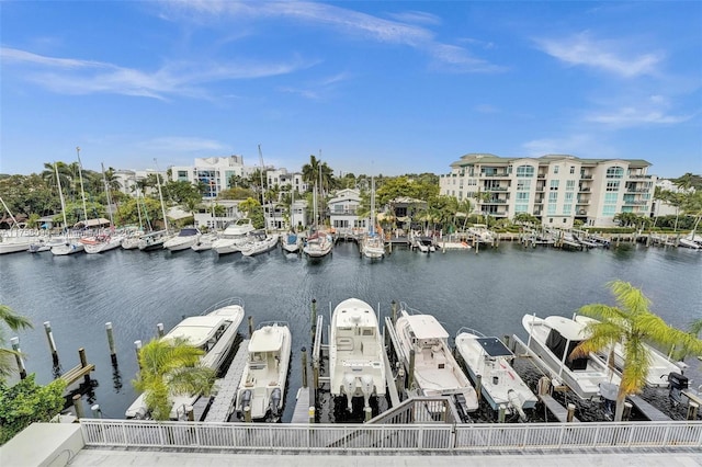
[[[465,409],[478,409],[478,397],[453,357],[449,348],[449,333],[431,315],[410,314],[406,304],[400,304],[400,315],[395,323],[399,339],[399,353],[407,367],[410,351],[415,355],[414,380],[421,396],[462,396]]]

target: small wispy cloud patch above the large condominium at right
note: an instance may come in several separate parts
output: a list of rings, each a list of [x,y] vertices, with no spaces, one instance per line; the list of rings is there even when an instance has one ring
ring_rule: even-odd
[[[587,32],[564,38],[535,39],[541,50],[568,65],[600,69],[624,78],[656,75],[661,54],[632,53],[621,41],[596,39]]]

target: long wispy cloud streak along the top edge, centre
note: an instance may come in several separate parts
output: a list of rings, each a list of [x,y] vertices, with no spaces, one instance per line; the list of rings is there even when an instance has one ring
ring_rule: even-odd
[[[434,62],[443,64],[442,70],[457,72],[501,71],[469,50],[437,41],[434,33],[416,23],[435,25],[440,20],[431,14],[409,11],[393,13],[395,20],[383,19],[331,4],[313,2],[238,2],[230,0],[194,0],[167,4],[170,14],[180,14],[188,21],[202,24],[206,18],[220,20],[228,14],[233,19],[280,18],[320,26],[330,26],[336,33],[361,37],[385,44],[404,45],[429,55]],[[412,24],[415,23],[415,24]]]

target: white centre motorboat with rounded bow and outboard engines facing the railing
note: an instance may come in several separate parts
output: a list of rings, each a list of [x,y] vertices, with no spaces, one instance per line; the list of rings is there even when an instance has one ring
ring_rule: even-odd
[[[383,352],[373,307],[358,298],[337,305],[331,316],[329,377],[331,396],[346,396],[349,411],[354,397],[363,397],[366,408],[371,396],[385,396]]]

